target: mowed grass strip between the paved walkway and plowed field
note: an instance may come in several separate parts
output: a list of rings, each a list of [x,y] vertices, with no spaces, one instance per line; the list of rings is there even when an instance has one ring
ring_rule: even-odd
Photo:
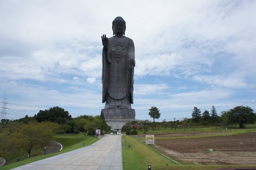
[[[126,149],[123,140],[126,140]],[[125,135],[122,136],[122,163],[123,170],[147,170],[148,164],[151,165],[151,170],[219,170],[221,168],[256,167],[255,165],[197,165],[178,162],[181,164],[179,165],[152,150],[145,144],[145,140]]]

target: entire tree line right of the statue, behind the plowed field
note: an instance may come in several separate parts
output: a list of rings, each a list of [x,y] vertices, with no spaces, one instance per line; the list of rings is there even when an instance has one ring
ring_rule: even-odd
[[[159,109],[156,107],[151,107],[149,109],[149,115],[153,118],[153,122],[145,120],[144,122],[127,122],[126,125],[122,127],[122,131],[143,131],[147,133],[148,129],[156,130],[160,128],[171,128],[176,130],[177,128],[182,128],[186,131],[187,128],[195,128],[200,125],[214,125],[214,126],[229,126],[229,125],[239,125],[240,128],[244,128],[245,124],[253,124],[256,122],[256,114],[253,109],[248,106],[237,106],[229,111],[222,111],[221,116],[218,116],[217,111],[214,106],[211,107],[211,113],[209,111],[204,111],[201,115],[200,109],[194,107],[192,112],[192,118],[183,118],[183,120],[174,120],[155,122],[154,119],[160,118]]]

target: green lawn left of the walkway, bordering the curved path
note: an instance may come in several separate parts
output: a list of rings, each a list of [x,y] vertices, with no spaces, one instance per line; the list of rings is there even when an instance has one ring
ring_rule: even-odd
[[[65,152],[69,152],[69,151],[72,151],[72,150],[76,150],[78,148],[85,147],[85,146],[83,146],[83,139],[85,139],[84,140],[85,141],[85,146],[91,145],[94,142],[96,142],[97,140],[99,140],[98,138],[95,138],[95,137],[92,137],[92,136],[87,136],[87,135],[84,135],[83,133],[80,133],[80,134],[77,134],[77,135],[74,135],[74,134],[58,135],[57,138],[56,138],[56,141],[59,141],[59,142],[63,143],[63,145],[64,145],[63,150],[61,150],[60,152],[26,158],[26,159],[24,159],[22,161],[19,161],[19,162],[16,162],[16,163],[1,166],[0,170],[10,170],[12,168],[22,166],[24,164],[32,163],[32,162],[35,162],[35,161],[39,161],[41,159],[45,159],[45,158],[48,158],[48,157],[59,155],[61,153],[65,153]]]

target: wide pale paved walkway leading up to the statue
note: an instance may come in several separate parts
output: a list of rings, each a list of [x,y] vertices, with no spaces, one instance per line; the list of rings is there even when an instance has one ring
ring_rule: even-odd
[[[90,146],[13,170],[122,170],[121,135],[107,135]]]

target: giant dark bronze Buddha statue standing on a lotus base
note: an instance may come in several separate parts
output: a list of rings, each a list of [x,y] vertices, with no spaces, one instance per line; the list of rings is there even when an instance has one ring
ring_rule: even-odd
[[[113,37],[102,35],[102,109],[105,118],[135,118],[134,42],[124,36],[126,22],[116,17],[112,22]]]

